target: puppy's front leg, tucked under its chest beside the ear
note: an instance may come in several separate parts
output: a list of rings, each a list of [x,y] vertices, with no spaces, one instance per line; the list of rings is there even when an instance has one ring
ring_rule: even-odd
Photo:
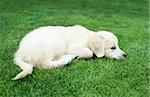
[[[76,55],[78,58],[91,58],[91,57],[93,57],[93,52],[89,48],[71,50],[70,53],[73,55]]]

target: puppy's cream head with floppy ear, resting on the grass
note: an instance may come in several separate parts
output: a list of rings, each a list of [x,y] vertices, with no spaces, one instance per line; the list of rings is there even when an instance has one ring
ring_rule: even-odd
[[[111,32],[99,31],[92,40],[90,48],[97,57],[125,59],[126,54],[118,46],[118,38]]]

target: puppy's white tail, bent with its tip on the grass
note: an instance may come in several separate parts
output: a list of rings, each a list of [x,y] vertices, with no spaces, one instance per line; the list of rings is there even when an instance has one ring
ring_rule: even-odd
[[[24,62],[19,55],[15,55],[14,62],[18,65],[23,71],[17,74],[12,80],[18,80],[20,78],[24,78],[29,74],[32,74],[33,65]]]

